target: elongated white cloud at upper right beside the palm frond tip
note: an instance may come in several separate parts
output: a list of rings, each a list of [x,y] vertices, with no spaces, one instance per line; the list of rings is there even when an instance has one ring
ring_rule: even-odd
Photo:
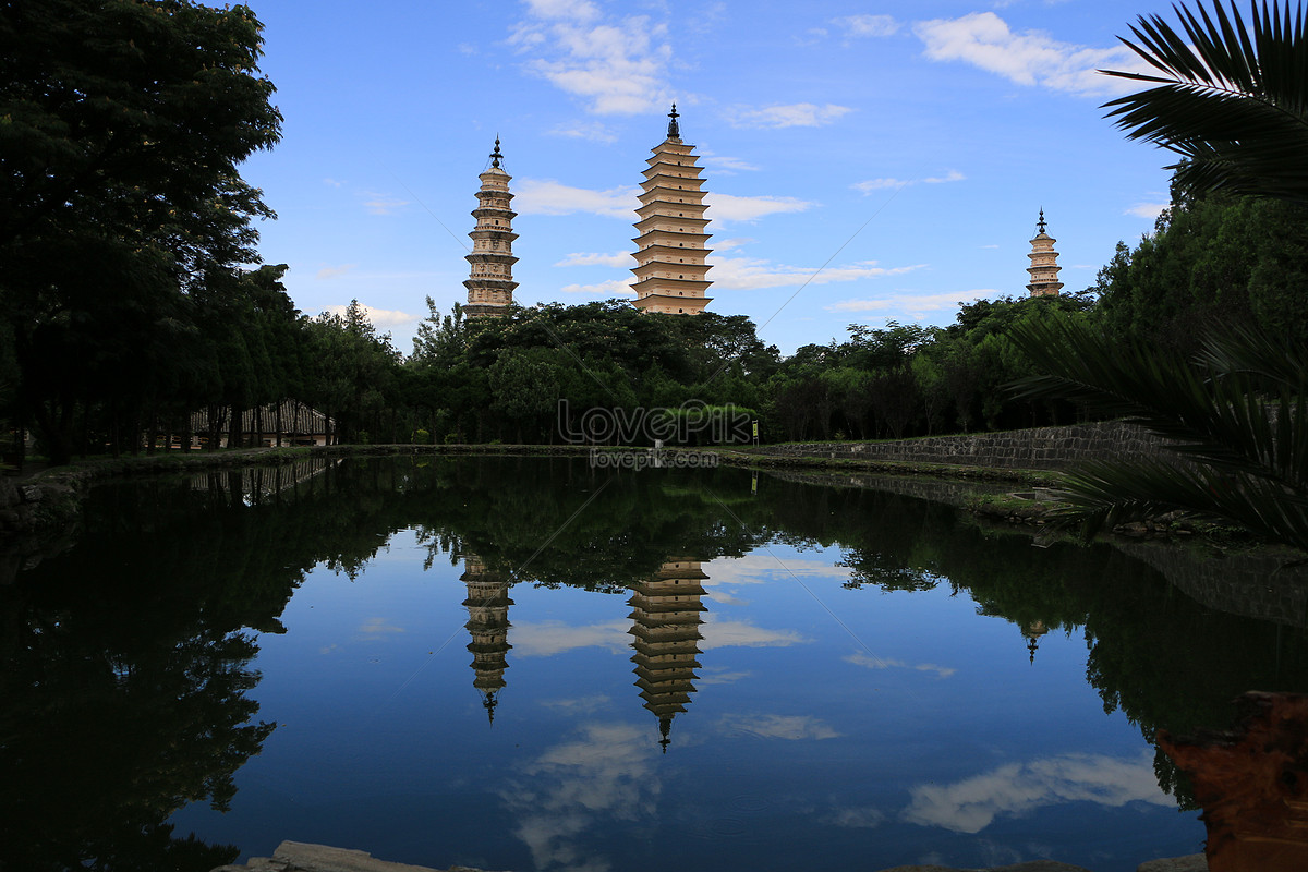
[[[931,60],[960,60],[1019,85],[1040,85],[1078,95],[1110,95],[1138,85],[1099,69],[1143,71],[1143,60],[1125,46],[1091,48],[1059,42],[1040,30],[1014,33],[993,12],[921,21],[913,33]]]

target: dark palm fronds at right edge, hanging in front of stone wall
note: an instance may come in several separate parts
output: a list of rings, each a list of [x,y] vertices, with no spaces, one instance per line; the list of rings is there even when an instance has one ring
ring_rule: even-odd
[[[1199,358],[1185,361],[1071,319],[1022,324],[1008,336],[1046,373],[1015,382],[1019,395],[1083,403],[1171,441],[1177,455],[1078,468],[1061,523],[1092,533],[1182,510],[1308,548],[1301,352],[1237,331],[1209,337]]]

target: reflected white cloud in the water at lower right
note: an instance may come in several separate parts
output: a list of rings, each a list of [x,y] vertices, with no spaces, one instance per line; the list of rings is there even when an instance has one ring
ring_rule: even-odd
[[[910,794],[913,801],[904,809],[905,820],[955,833],[980,833],[995,817],[1018,817],[1061,803],[1109,807],[1175,803],[1159,790],[1151,753],[1135,760],[1067,754],[1007,763],[954,784],[918,784]]]

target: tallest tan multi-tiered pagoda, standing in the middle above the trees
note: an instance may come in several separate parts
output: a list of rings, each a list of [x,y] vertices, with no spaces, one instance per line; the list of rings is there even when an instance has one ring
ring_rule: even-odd
[[[681,141],[676,103],[668,112],[667,139],[654,146],[641,182],[641,205],[636,209],[640,231],[636,243],[634,306],[645,312],[697,315],[709,305],[705,292],[713,282],[704,259],[709,235],[704,231],[704,179],[695,146]]]

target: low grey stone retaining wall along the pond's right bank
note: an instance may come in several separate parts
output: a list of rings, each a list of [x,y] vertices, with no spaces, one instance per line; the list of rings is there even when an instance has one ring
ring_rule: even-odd
[[[944,463],[1005,469],[1066,469],[1083,460],[1156,458],[1164,441],[1121,421],[967,433],[888,442],[807,442],[766,446],[761,454],[900,463]]]

